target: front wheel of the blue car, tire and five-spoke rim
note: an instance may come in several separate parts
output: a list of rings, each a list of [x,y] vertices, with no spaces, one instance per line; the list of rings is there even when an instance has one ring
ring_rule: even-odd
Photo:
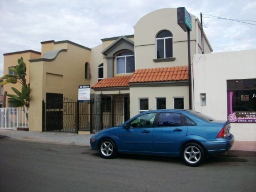
[[[111,139],[103,139],[99,143],[99,154],[105,159],[112,159],[117,156],[117,147]]]

